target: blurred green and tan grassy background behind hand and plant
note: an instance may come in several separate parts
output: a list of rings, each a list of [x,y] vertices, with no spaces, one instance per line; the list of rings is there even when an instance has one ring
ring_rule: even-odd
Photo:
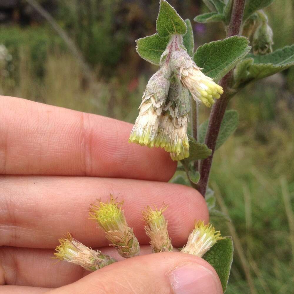
[[[137,55],[134,41],[155,33],[158,1],[38,1],[82,61],[28,2],[0,1],[0,94],[133,123],[156,71]],[[169,3],[191,19],[196,48],[225,37],[221,24],[193,22],[208,12],[202,1]],[[265,12],[274,49],[293,44],[293,0],[276,0]],[[226,293],[293,293],[293,107],[294,67],[250,84],[230,102],[240,125],[216,152],[210,181],[219,208],[232,219],[213,220],[234,238]],[[209,110],[200,113],[203,121]]]

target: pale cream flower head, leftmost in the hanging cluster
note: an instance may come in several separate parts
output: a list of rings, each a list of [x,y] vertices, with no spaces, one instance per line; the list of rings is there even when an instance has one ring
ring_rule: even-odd
[[[154,147],[170,86],[169,75],[170,69],[163,66],[150,78],[143,93],[140,112],[131,131],[129,142]]]

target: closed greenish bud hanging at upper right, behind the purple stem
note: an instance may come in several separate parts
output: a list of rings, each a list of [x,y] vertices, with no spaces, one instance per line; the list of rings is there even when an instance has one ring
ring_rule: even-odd
[[[273,52],[273,31],[267,22],[258,26],[253,35],[253,53],[264,55]]]

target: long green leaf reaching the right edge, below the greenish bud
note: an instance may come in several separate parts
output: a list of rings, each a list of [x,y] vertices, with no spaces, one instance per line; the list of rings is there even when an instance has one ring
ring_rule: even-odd
[[[258,80],[293,66],[294,44],[275,50],[270,54],[256,56],[253,54],[248,54],[247,57],[253,58],[253,64],[248,68],[248,79]]]

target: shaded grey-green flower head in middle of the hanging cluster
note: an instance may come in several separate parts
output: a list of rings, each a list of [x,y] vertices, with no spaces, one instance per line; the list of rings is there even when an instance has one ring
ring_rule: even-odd
[[[176,79],[172,80],[155,146],[170,152],[173,160],[181,160],[189,156],[187,136],[189,111],[188,90]]]

